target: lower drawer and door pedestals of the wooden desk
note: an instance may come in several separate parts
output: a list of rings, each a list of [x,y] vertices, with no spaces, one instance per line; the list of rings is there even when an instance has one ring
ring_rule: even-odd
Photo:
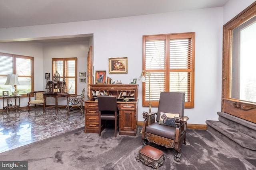
[[[99,133],[98,102],[85,102],[85,132]],[[138,122],[138,100],[117,102],[119,110],[119,135],[136,136]]]

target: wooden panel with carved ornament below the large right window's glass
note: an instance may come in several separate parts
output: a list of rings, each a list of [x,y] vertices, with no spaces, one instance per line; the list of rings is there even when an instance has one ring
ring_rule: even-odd
[[[241,119],[256,123],[256,106],[239,102],[238,100],[224,99],[225,113],[229,113]]]

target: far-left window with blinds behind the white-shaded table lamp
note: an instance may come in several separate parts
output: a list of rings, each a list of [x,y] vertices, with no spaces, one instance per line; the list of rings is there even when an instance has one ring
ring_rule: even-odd
[[[10,85],[4,85],[7,74],[18,74],[20,85],[16,86],[16,91],[19,94],[34,91],[33,68],[34,57],[0,53],[0,92],[10,91]]]

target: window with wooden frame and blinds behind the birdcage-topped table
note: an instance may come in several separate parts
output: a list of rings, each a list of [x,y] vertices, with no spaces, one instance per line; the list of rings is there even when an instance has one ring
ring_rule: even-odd
[[[68,93],[76,94],[77,87],[77,58],[53,58],[52,76],[54,73],[60,74],[60,78],[65,78]]]

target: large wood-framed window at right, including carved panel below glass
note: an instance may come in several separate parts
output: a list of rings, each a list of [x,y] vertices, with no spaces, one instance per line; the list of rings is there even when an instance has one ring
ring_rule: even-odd
[[[222,112],[256,123],[256,2],[223,26]]]

